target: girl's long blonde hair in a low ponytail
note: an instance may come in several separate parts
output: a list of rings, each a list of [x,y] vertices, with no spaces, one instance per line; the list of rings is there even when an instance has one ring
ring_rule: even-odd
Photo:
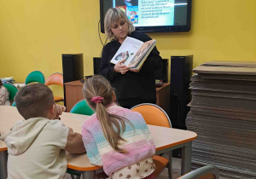
[[[101,123],[103,134],[113,149],[119,153],[126,151],[119,147],[120,141],[125,141],[120,135],[125,131],[125,122],[131,122],[124,117],[108,113],[106,107],[113,103],[113,88],[106,78],[96,75],[88,78],[83,86],[84,98],[91,108],[96,111],[96,116]],[[103,97],[102,102],[91,101],[93,97]],[[133,127],[133,125],[131,124]]]

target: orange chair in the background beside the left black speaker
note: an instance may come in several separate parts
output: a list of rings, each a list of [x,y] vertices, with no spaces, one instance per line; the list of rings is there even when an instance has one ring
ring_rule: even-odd
[[[52,84],[57,84],[63,87],[63,75],[60,72],[55,72],[49,75],[46,79],[45,85],[49,86]],[[54,96],[55,102],[63,101],[64,98],[61,96]]]

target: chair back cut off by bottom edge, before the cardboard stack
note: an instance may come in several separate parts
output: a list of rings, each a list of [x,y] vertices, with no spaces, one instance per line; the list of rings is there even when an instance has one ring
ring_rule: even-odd
[[[214,165],[203,166],[199,169],[178,177],[177,179],[218,179],[219,170]]]

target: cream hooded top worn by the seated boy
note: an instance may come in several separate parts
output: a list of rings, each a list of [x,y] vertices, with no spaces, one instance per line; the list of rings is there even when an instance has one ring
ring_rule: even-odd
[[[8,147],[8,178],[63,178],[68,127],[60,120],[18,121],[0,140]]]

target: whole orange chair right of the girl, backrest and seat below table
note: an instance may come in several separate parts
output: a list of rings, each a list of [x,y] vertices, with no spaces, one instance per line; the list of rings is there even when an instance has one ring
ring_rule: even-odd
[[[139,104],[131,108],[131,111],[141,113],[146,124],[157,125],[162,127],[172,128],[172,123],[166,112],[159,106],[151,103]],[[154,170],[154,176],[160,175],[162,170],[168,165],[168,176],[172,179],[172,152],[168,153],[168,158],[154,155],[154,165],[156,170]]]

